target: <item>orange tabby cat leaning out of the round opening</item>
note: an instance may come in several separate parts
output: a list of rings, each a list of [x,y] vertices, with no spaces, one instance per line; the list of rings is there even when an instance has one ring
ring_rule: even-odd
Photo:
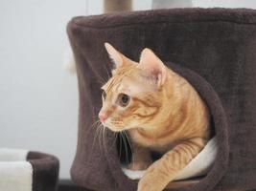
[[[116,67],[102,87],[101,122],[127,131],[131,169],[147,169],[138,191],[160,191],[193,159],[209,139],[207,107],[186,79],[144,49],[134,62],[105,43]],[[151,150],[163,153],[152,163]]]

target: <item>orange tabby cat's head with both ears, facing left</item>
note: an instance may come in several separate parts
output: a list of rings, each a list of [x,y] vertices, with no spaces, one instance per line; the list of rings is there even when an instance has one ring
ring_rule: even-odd
[[[105,48],[115,69],[102,87],[101,122],[115,132],[146,127],[161,106],[164,64],[149,49],[141,53],[137,63],[107,43]]]

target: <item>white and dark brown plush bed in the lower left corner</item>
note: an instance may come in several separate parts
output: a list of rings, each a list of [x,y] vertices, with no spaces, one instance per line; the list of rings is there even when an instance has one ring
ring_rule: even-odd
[[[0,148],[0,190],[55,191],[58,159],[22,149]]]

